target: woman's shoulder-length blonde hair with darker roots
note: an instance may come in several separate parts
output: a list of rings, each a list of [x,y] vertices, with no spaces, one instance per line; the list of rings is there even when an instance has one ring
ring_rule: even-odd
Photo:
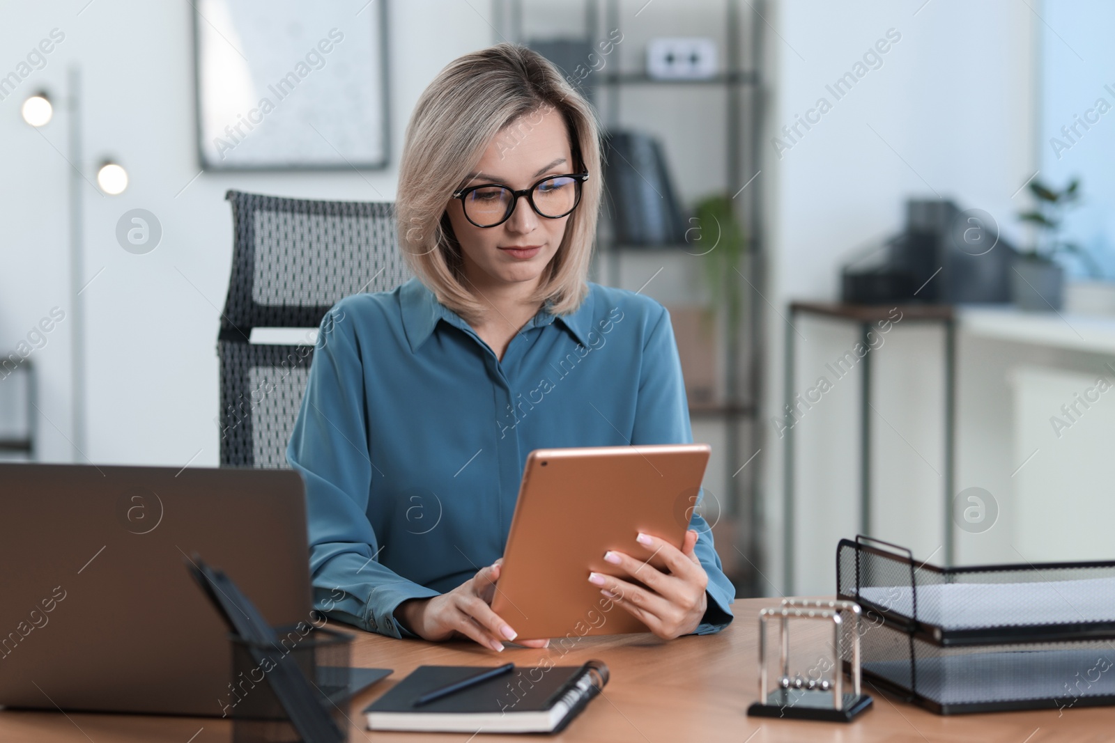
[[[590,174],[561,245],[531,296],[549,302],[553,314],[565,314],[588,294],[600,212],[600,128],[589,102],[537,52],[500,43],[450,62],[423,91],[410,116],[396,201],[399,247],[415,275],[466,321],[479,319],[487,306],[462,283],[460,245],[446,204],[503,129],[551,108],[561,113],[569,130],[571,167]]]

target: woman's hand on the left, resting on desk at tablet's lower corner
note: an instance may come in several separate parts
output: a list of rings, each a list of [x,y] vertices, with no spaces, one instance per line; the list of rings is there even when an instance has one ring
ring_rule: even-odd
[[[493,651],[503,652],[503,643],[515,639],[516,633],[491,607],[502,564],[503,558],[481,568],[475,576],[447,594],[403,602],[395,609],[395,617],[424,639],[442,642],[463,635]],[[550,641],[524,639],[518,644],[546,647]]]

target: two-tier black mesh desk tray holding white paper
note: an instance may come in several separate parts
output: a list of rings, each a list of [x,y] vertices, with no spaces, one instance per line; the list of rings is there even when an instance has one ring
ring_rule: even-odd
[[[836,585],[864,678],[933,712],[1115,704],[1115,561],[941,568],[861,536]]]

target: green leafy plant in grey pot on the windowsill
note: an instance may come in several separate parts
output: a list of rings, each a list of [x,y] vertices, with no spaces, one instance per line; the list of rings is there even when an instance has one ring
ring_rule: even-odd
[[[1029,184],[1037,206],[1020,213],[1018,218],[1034,225],[1037,234],[1032,247],[1019,253],[1010,277],[1011,295],[1021,310],[1061,309],[1065,270],[1055,260],[1058,253],[1076,255],[1090,275],[1099,275],[1099,268],[1087,251],[1061,235],[1065,213],[1079,202],[1079,178],[1073,178],[1061,190],[1037,179]]]

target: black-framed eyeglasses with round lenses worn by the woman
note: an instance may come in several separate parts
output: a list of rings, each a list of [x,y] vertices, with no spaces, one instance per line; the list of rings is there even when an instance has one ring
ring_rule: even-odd
[[[539,216],[560,219],[581,203],[581,184],[588,179],[588,173],[552,175],[522,190],[486,183],[462,188],[453,194],[453,198],[460,199],[465,218],[477,227],[495,227],[510,219],[520,196],[526,197]]]

